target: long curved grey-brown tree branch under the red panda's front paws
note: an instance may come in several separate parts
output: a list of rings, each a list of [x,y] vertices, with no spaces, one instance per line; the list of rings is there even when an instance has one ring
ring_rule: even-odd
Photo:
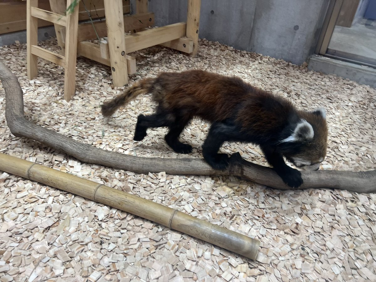
[[[17,77],[0,61],[0,80],[6,96],[5,117],[12,134],[46,144],[87,163],[133,171],[135,173],[233,175],[281,190],[291,190],[269,167],[253,164],[235,153],[226,170],[214,170],[203,159],[145,158],[98,149],[38,126],[24,117],[23,92]],[[376,192],[376,170],[365,172],[319,170],[302,172],[299,189],[332,188],[358,193]]]

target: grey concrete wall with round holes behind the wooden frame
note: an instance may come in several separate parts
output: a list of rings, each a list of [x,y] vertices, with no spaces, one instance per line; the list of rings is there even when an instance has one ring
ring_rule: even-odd
[[[329,0],[202,0],[200,38],[294,64],[313,53]],[[156,25],[186,20],[186,0],[149,0]]]

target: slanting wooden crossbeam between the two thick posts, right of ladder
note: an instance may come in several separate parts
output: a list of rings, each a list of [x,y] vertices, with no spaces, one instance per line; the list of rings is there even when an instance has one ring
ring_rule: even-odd
[[[127,52],[131,53],[157,44],[162,44],[185,36],[185,23],[174,23],[168,26],[148,29],[125,36]]]

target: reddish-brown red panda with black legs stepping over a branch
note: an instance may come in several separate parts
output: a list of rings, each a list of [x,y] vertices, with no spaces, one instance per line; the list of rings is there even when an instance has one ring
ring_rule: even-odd
[[[152,115],[139,115],[134,140],[140,141],[149,127],[168,127],[167,144],[178,153],[190,153],[192,147],[179,141],[180,133],[193,118],[211,123],[202,146],[202,154],[211,167],[223,170],[229,156],[218,150],[224,142],[253,143],[261,147],[266,160],[282,180],[299,187],[299,170],[288,166],[317,170],[326,156],[327,125],[325,109],[301,111],[271,92],[256,88],[238,77],[203,70],[161,73],[143,79],[123,94],[102,105],[104,116],[140,94],[151,93],[156,102]]]

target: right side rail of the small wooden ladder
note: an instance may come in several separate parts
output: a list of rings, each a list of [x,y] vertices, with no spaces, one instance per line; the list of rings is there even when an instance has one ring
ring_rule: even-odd
[[[67,0],[67,8],[73,0]],[[64,99],[69,101],[76,86],[78,7],[67,17],[65,35]]]

